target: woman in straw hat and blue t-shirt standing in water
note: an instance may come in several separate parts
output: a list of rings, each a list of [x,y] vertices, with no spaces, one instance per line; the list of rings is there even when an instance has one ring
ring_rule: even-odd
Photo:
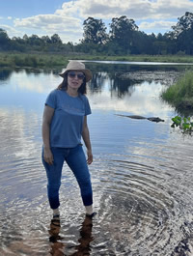
[[[70,61],[60,74],[64,80],[45,101],[42,118],[42,163],[47,175],[47,195],[53,217],[59,218],[59,188],[64,161],[80,187],[86,215],[93,217],[93,191],[88,164],[93,162],[92,146],[87,126],[91,108],[86,94],[86,82],[92,72],[83,63]],[[87,148],[86,159],[81,137]]]

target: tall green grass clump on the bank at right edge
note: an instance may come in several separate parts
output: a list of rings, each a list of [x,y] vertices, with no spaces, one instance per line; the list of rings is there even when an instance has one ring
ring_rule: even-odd
[[[170,86],[161,95],[163,100],[166,100],[179,111],[185,109],[193,109],[193,71],[186,71],[179,78],[177,83]]]

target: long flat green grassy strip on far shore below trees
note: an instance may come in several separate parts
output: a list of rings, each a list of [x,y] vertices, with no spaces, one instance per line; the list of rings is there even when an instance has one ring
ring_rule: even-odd
[[[179,55],[128,55],[128,56],[103,56],[83,54],[28,54],[28,53],[0,53],[0,67],[33,67],[53,68],[64,67],[69,59],[77,60],[103,60],[103,61],[129,61],[129,62],[171,62],[171,63],[193,63],[193,56]]]

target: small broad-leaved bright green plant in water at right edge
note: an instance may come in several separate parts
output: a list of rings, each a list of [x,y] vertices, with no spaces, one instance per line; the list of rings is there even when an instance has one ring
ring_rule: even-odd
[[[190,117],[187,118],[181,118],[179,116],[176,116],[174,118],[172,118],[173,124],[172,124],[172,128],[180,128],[182,129],[182,133],[189,133],[191,134],[191,132],[193,131],[193,122],[191,121]]]

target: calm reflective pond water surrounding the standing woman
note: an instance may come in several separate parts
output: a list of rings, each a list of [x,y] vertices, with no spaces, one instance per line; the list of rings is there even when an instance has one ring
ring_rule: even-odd
[[[85,218],[64,166],[60,226],[51,223],[41,165],[42,106],[58,71],[1,71],[0,255],[193,255],[193,141],[170,128],[175,110],[159,99],[181,70],[90,67],[97,215]]]

